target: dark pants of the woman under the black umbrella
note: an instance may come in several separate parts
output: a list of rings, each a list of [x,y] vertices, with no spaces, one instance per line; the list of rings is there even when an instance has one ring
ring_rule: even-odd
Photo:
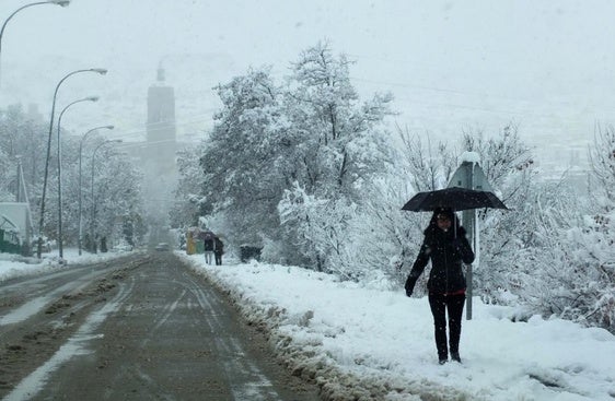
[[[449,349],[451,353],[460,351],[464,303],[465,294],[429,294],[429,306],[431,307],[436,329],[436,347],[441,361],[449,358]],[[449,311],[449,347],[446,347],[446,310]]]

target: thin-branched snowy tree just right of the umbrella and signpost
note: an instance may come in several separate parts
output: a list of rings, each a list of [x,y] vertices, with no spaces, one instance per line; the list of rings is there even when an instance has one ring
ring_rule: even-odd
[[[480,155],[483,168],[509,211],[480,210],[480,264],[474,270],[475,294],[497,300],[502,291],[522,285],[531,269],[526,255],[534,228],[534,209],[530,202],[536,190],[534,161],[519,138],[514,125],[485,138],[483,132],[465,133],[461,148]]]

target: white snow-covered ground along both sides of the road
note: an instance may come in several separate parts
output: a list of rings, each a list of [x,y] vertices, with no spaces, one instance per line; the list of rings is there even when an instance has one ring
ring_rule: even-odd
[[[512,322],[514,309],[476,298],[473,320],[463,322],[463,364],[440,366],[426,298],[294,267],[216,267],[202,256],[176,253],[228,292],[246,318],[270,332],[280,358],[317,380],[330,399],[615,399],[615,337],[602,329],[539,316]],[[66,259],[117,255],[68,250]],[[53,259],[27,264],[2,255],[0,281],[50,269],[58,269]]]

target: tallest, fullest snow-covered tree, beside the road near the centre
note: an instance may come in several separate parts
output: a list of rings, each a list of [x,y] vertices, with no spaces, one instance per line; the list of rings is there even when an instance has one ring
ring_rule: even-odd
[[[306,229],[301,219],[285,219],[279,229],[278,204],[285,190],[297,187],[326,204],[323,212],[357,203],[362,188],[383,170],[387,154],[381,122],[391,98],[375,95],[361,103],[348,66],[346,57],[335,58],[318,44],[300,56],[283,84],[265,68],[218,87],[223,107],[200,157],[200,201],[207,213],[224,215],[236,241],[276,240],[270,257],[326,269],[318,258],[328,251],[313,259],[308,249],[318,245],[295,247]],[[285,205],[287,217],[292,204]]]

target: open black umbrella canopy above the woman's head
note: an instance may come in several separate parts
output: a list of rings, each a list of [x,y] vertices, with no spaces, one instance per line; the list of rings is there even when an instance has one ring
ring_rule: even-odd
[[[450,208],[454,211],[480,208],[508,209],[494,192],[451,187],[437,191],[418,192],[404,204],[402,210],[428,212],[438,208]]]

